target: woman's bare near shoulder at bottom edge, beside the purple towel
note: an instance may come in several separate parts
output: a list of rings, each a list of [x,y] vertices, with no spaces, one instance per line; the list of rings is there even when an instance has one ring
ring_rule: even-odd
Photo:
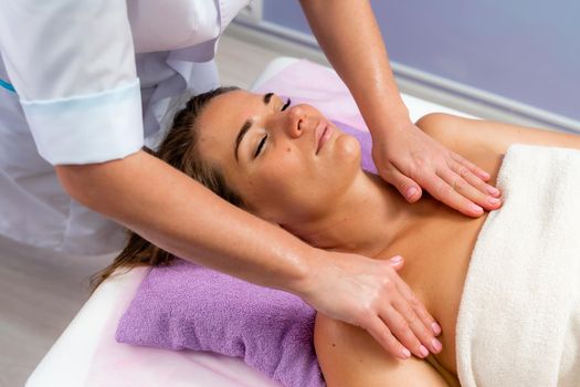
[[[363,330],[321,314],[316,316],[314,343],[328,387],[447,386],[425,360],[400,360]]]

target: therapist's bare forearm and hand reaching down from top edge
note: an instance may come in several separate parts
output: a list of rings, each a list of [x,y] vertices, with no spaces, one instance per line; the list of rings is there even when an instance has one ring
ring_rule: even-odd
[[[300,4],[320,48],[362,113],[382,178],[410,202],[421,198],[423,187],[466,216],[497,209],[500,202],[494,199],[500,192],[486,184],[489,175],[411,122],[369,1],[300,0]]]

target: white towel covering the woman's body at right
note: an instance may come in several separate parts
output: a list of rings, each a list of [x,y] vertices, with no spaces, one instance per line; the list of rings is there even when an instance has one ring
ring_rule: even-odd
[[[460,381],[580,386],[580,151],[512,146],[497,186],[460,305]]]

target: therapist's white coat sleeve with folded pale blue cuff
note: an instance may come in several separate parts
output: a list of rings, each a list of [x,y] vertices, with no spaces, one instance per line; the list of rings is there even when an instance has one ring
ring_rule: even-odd
[[[102,163],[140,149],[141,98],[125,1],[1,0],[0,52],[49,163]]]

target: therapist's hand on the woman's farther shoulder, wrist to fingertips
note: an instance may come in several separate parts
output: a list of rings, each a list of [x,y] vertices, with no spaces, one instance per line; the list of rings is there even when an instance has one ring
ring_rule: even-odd
[[[380,176],[409,202],[421,198],[423,187],[435,199],[470,217],[502,206],[500,191],[486,182],[489,174],[411,122],[373,135],[372,143],[372,158]]]

